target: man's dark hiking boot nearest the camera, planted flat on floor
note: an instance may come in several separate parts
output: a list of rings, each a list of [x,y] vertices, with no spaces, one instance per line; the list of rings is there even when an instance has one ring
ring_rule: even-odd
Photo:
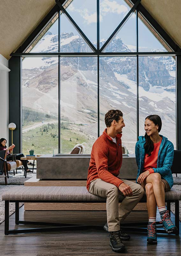
[[[109,232],[110,234],[110,243],[113,252],[125,252],[125,246],[121,241],[119,231]]]

